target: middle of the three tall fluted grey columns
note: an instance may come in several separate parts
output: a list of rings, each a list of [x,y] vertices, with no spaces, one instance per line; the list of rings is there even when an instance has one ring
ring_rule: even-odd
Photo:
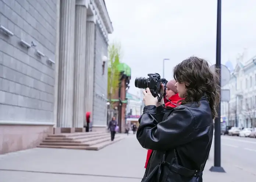
[[[86,56],[86,6],[75,6],[75,73],[74,119],[75,128],[83,128],[85,119],[85,56]]]

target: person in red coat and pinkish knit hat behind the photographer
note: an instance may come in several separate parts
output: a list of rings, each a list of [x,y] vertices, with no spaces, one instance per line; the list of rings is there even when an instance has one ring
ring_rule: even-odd
[[[170,80],[166,84],[166,98],[164,98],[164,103],[166,107],[175,108],[178,106],[177,102],[181,100],[182,98],[179,97],[177,88],[174,86],[176,81]],[[168,98],[168,99],[167,99]],[[147,158],[146,158],[146,164],[145,168],[147,168],[147,163],[149,162],[150,155],[152,153],[152,150],[147,150]]]

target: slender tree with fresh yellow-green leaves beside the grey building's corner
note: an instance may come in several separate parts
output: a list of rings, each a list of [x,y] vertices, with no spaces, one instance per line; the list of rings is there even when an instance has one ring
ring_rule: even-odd
[[[120,46],[116,44],[109,45],[109,63],[108,63],[108,83],[107,83],[107,93],[110,102],[110,108],[113,109],[111,102],[113,94],[118,89],[118,83],[120,79],[120,72],[118,70],[118,65],[120,64]]]

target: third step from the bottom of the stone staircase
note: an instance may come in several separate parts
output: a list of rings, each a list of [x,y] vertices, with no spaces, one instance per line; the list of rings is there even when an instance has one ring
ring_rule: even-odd
[[[95,141],[95,140],[98,140],[98,139],[102,139],[102,138],[109,138],[110,137],[110,134],[104,134],[104,135],[99,135],[99,136],[85,136],[81,139],[72,139],[72,140],[66,140],[66,139],[56,139],[56,140],[53,140],[53,139],[46,139],[43,141],[43,143],[84,143],[84,142],[89,142],[89,141]]]

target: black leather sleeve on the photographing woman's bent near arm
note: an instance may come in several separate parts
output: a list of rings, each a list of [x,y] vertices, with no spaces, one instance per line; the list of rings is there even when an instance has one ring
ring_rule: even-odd
[[[146,106],[139,119],[136,136],[143,148],[166,151],[191,141],[195,117],[189,109],[179,106],[163,121],[156,111],[156,106]]]

